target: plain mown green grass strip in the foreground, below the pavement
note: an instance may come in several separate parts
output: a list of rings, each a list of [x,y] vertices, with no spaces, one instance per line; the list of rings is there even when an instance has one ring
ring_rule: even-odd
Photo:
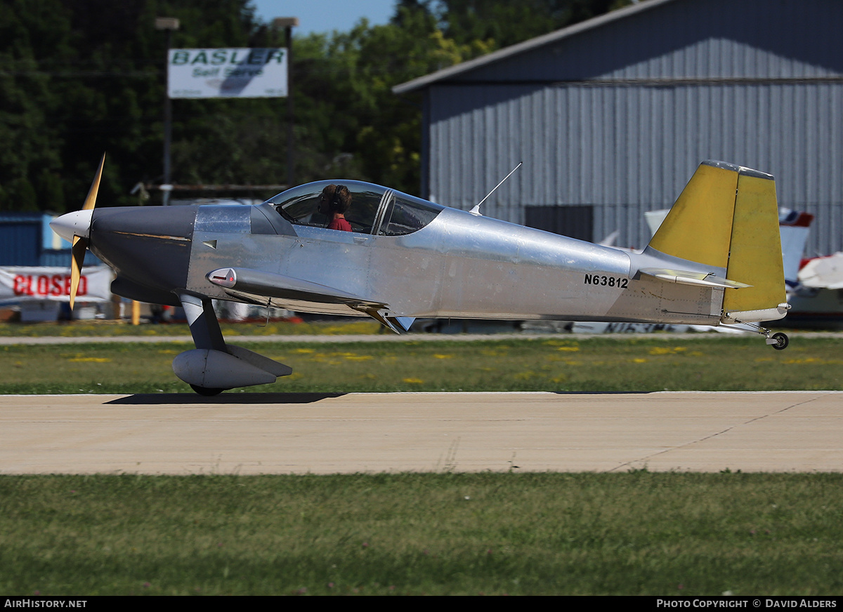
[[[841,474],[0,476],[13,594],[840,594]]]

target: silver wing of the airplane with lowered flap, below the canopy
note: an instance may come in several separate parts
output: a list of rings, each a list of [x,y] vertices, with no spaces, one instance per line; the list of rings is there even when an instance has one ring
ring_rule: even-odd
[[[246,298],[257,304],[266,298],[309,301],[318,304],[345,304],[352,310],[364,312],[395,333],[409,331],[413,317],[397,317],[388,304],[368,300],[360,295],[327,285],[297,279],[286,274],[273,274],[247,268],[221,268],[208,273],[206,278],[219,285],[235,298]]]

